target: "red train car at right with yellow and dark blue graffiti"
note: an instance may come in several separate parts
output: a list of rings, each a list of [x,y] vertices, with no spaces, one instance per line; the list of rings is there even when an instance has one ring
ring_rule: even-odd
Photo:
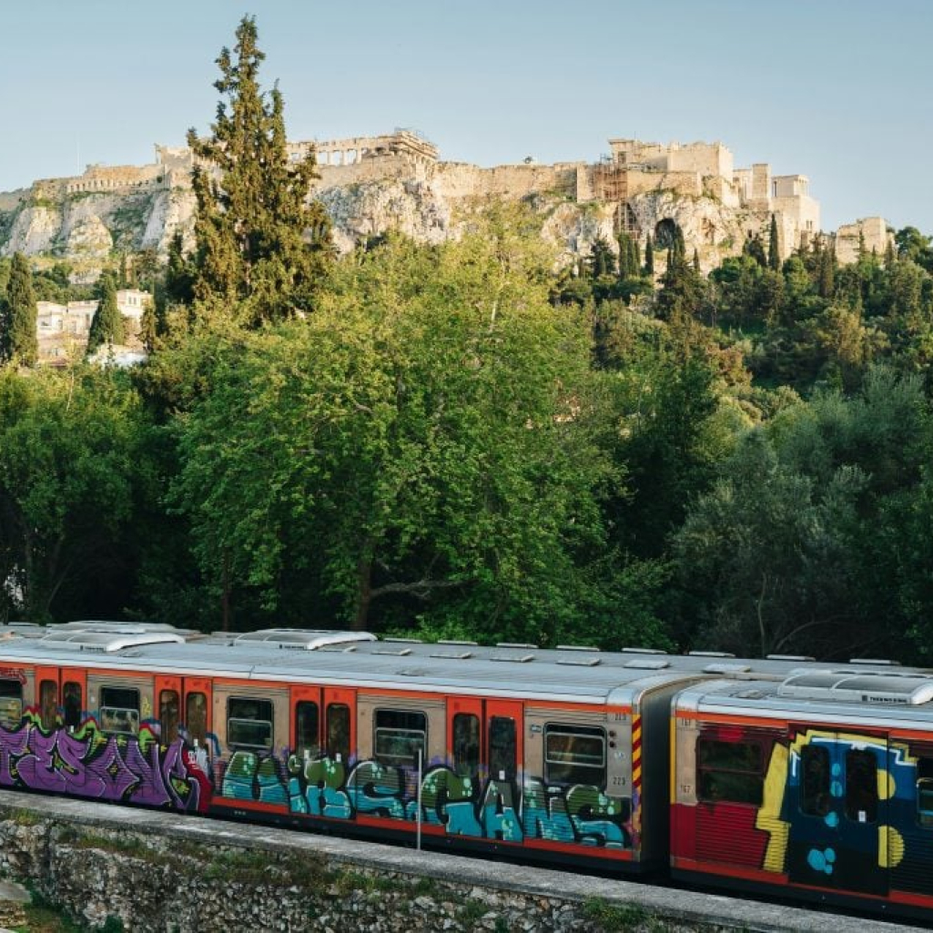
[[[933,908],[933,672],[810,664],[672,707],[675,878]]]

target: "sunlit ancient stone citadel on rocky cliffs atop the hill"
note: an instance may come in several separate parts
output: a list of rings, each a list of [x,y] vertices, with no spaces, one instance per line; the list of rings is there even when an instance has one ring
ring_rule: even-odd
[[[420,134],[289,144],[289,158],[314,150],[320,178],[313,193],[334,220],[337,245],[347,250],[384,230],[426,242],[455,236],[470,206],[489,199],[532,202],[544,235],[566,257],[586,255],[596,237],[612,242],[621,230],[648,234],[663,247],[674,225],[683,230],[703,268],[742,250],[745,238],[777,221],[787,258],[820,232],[820,211],[803,174],[775,175],[765,162],[735,168],[721,143],[645,143],[610,139],[595,161],[481,168],[439,159]],[[191,234],[193,156],[186,147],[157,146],[154,163],[91,165],[80,175],[43,179],[0,194],[0,252],[68,258],[88,276],[116,251],[161,252],[176,230]],[[883,252],[884,219],[856,221],[832,234],[837,256],[852,261],[859,241]],[[80,274],[80,272],[78,272]]]

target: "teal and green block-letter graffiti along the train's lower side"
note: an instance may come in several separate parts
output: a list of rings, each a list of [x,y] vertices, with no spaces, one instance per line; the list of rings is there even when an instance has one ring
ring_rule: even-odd
[[[414,821],[417,777],[411,769],[364,760],[351,766],[330,758],[285,765],[272,756],[234,752],[221,782],[227,798],[287,804],[295,814],[353,819],[356,815]],[[454,836],[503,842],[539,839],[631,849],[632,804],[598,787],[553,787],[526,778],[521,795],[512,781],[476,780],[444,764],[426,771],[421,786],[425,826]]]

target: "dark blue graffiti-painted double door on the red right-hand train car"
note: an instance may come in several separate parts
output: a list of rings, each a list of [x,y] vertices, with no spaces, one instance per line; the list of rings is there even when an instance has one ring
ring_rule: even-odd
[[[806,727],[795,734],[790,786],[796,786],[797,800],[789,801],[790,880],[886,895],[891,785],[887,736]]]

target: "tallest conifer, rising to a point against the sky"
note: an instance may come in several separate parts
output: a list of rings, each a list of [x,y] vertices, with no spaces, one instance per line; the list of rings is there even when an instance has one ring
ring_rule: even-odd
[[[188,131],[202,164],[193,173],[194,297],[206,310],[238,313],[260,325],[310,310],[332,254],[330,223],[320,202],[307,203],[317,177],[313,153],[288,159],[282,94],[259,89],[256,21],[244,17],[231,54],[217,59],[217,106],[212,135]],[[237,309],[234,311],[234,309]]]

